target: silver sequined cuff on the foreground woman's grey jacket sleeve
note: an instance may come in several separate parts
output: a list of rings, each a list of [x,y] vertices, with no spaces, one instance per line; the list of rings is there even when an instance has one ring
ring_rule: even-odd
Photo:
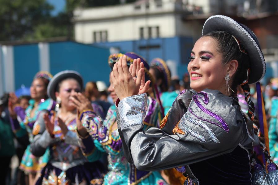
[[[144,93],[126,97],[119,102],[117,107],[117,122],[120,122],[118,129],[131,125],[143,125],[143,118],[148,108],[147,99],[147,94]]]

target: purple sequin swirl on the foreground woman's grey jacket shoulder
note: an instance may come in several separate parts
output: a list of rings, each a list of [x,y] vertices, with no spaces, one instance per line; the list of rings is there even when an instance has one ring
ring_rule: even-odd
[[[198,96],[198,94],[201,94],[201,95],[203,95],[204,97]],[[202,103],[199,101],[199,98],[201,98],[201,99],[203,100],[203,102],[207,105],[207,104],[209,103],[209,96],[208,96],[208,94],[207,94],[206,92],[203,92],[203,91],[198,92],[197,94],[195,94],[195,95],[193,96],[193,100],[194,100],[195,104],[199,107],[199,109],[201,109],[201,110],[202,110],[204,113],[206,113],[207,115],[209,115],[209,116],[211,116],[211,117],[217,119],[217,120],[219,121],[219,123],[221,123],[221,125],[216,124],[216,123],[214,123],[214,122],[210,122],[210,121],[208,121],[208,120],[203,120],[203,119],[202,119],[202,120],[203,120],[203,121],[208,121],[209,123],[212,123],[212,124],[215,124],[215,125],[219,126],[220,128],[222,128],[224,131],[229,132],[229,127],[228,127],[227,123],[225,122],[225,120],[224,120],[221,116],[219,116],[219,115],[217,115],[217,114],[211,112],[210,110],[206,109],[206,108],[202,105]]]

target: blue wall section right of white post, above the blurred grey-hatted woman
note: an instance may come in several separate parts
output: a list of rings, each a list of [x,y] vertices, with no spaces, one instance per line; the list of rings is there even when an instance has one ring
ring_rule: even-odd
[[[78,71],[84,82],[103,80],[109,84],[109,49],[76,42],[49,44],[50,72],[55,75],[63,70]]]

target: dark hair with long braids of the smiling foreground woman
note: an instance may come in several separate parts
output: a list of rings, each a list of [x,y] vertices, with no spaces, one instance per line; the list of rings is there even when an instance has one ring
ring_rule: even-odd
[[[215,39],[218,43],[218,52],[222,53],[223,56],[223,64],[227,64],[231,60],[237,60],[238,61],[238,67],[236,73],[232,77],[232,84],[231,88],[233,91],[235,91],[235,94],[233,95],[234,99],[237,99],[237,85],[240,85],[243,89],[243,92],[245,94],[245,101],[247,102],[248,106],[248,117],[251,121],[253,121],[253,128],[254,133],[258,136],[261,147],[263,148],[264,154],[266,159],[268,159],[270,156],[268,155],[265,147],[265,141],[263,133],[259,131],[259,121],[258,118],[254,115],[254,103],[251,100],[251,94],[250,94],[250,87],[248,85],[248,73],[249,73],[249,67],[250,67],[250,59],[249,56],[242,52],[244,51],[242,46],[238,45],[236,39],[228,32],[224,31],[213,31],[210,32],[202,37],[212,37]],[[246,51],[248,52],[248,51]],[[244,115],[245,121],[247,122],[247,119]]]

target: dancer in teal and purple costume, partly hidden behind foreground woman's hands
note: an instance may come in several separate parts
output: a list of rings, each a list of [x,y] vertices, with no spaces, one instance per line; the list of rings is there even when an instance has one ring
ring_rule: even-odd
[[[111,56],[111,58],[114,58],[115,62],[117,62],[120,56],[122,55],[114,55]],[[112,66],[115,62],[112,63]],[[136,65],[136,63],[134,63],[134,65]],[[108,91],[111,93],[113,100],[116,101],[117,96],[113,85],[110,85]],[[83,98],[77,96],[77,99],[82,100]],[[144,118],[145,129],[156,125],[153,111],[156,110],[155,106],[157,106],[157,103],[152,98],[149,98],[148,100],[148,113],[150,114],[147,113],[149,116]],[[77,100],[76,103],[78,103]],[[117,129],[117,113],[115,105],[110,107],[104,121],[94,113],[91,107],[83,108],[82,110],[84,110],[80,113],[80,123],[82,123],[82,125],[80,124],[77,126],[77,130],[80,134],[80,146],[84,155],[89,161],[96,161],[102,153],[108,153],[109,172],[105,175],[103,184],[166,184],[159,172],[137,170],[135,166],[132,163],[129,163],[124,157],[122,141]]]

